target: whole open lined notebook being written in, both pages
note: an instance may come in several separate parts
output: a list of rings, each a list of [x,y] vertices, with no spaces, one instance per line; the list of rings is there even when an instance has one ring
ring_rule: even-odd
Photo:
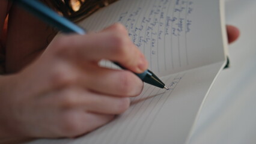
[[[170,90],[145,84],[109,124],[76,139],[31,143],[189,143],[207,92],[227,63],[223,1],[120,0],[79,25],[99,31],[115,22],[126,26]]]

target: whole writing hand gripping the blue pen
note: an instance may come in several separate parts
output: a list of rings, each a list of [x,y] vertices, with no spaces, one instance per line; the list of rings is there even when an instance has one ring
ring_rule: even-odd
[[[99,67],[101,59],[147,69],[123,25],[59,36],[37,61],[2,79],[0,136],[75,137],[124,112],[143,83],[130,71]]]

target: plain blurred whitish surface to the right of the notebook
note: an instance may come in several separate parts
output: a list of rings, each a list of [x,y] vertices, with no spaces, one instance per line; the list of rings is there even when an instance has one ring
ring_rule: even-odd
[[[226,0],[226,23],[240,29],[190,143],[256,143],[256,1]]]

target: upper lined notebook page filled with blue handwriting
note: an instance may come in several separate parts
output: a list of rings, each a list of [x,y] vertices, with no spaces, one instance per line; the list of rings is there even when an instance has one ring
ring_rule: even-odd
[[[149,69],[166,76],[224,61],[219,7],[218,0],[120,0],[79,25],[100,31],[123,23]]]

